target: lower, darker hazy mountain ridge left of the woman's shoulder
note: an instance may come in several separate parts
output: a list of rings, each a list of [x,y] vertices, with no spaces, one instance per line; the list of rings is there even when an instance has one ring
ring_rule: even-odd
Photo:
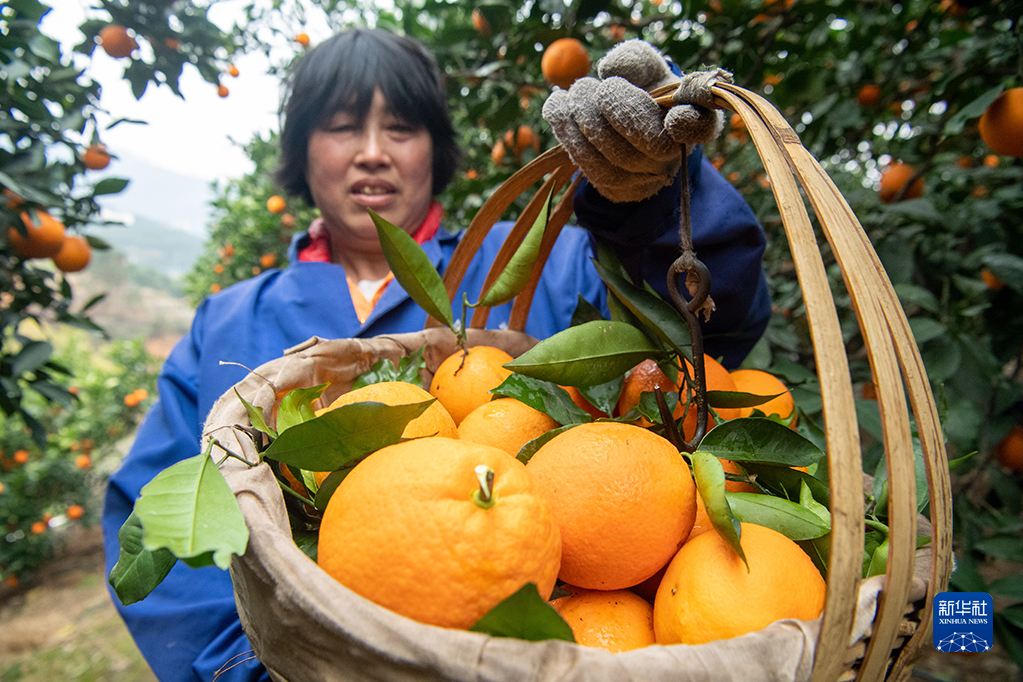
[[[178,279],[191,270],[206,239],[142,216],[124,227],[90,227],[89,234],[106,241],[125,260]]]

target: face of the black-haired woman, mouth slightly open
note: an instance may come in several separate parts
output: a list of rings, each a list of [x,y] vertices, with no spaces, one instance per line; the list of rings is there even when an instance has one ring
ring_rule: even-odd
[[[414,232],[433,199],[433,150],[429,131],[392,113],[379,89],[361,124],[339,111],[314,131],[309,188],[331,239],[352,246],[376,241],[366,209]]]

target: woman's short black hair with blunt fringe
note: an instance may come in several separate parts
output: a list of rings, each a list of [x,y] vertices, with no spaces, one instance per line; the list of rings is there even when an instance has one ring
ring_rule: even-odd
[[[280,162],[274,180],[315,201],[307,180],[309,137],[338,111],[360,122],[380,88],[388,106],[433,140],[433,195],[444,191],[461,156],[448,115],[444,79],[420,43],[383,29],[349,29],[303,56],[284,82],[280,104]]]

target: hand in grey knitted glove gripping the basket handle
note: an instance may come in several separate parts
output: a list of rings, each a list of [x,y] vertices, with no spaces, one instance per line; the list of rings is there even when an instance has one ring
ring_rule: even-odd
[[[678,173],[682,144],[708,142],[721,132],[719,110],[654,101],[648,90],[679,79],[650,43],[620,43],[596,69],[599,78],[555,87],[542,113],[572,162],[612,201],[654,195]]]

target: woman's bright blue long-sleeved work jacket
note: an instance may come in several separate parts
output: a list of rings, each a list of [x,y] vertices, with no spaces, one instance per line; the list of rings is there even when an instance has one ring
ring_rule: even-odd
[[[763,230],[749,206],[699,149],[688,163],[697,256],[710,268],[717,304],[705,324],[707,352],[738,365],[762,334],[770,316],[761,268]],[[665,292],[665,273],[677,257],[679,183],[635,203],[611,203],[585,183],[575,197],[580,227],[567,226],[544,269],[526,331],[545,338],[567,328],[581,294],[607,314],[607,294],[590,262],[594,239],[611,246],[631,271]],[[470,301],[479,290],[509,229],[498,224],[484,241],[462,281]],[[422,244],[444,271],[459,234],[443,227]],[[106,570],[119,554],[118,530],[142,486],[171,464],[199,452],[199,433],[213,403],[255,368],[311,336],[367,337],[416,331],[426,313],[397,281],[391,282],[365,322],[352,306],[345,271],[331,263],[300,263],[308,235],[293,240],[291,265],[268,270],[208,297],[191,329],[164,364],[159,400],[138,429],[134,445],[110,476],[102,526]],[[682,287],[684,289],[684,287]],[[461,301],[459,292],[455,301]],[[510,306],[494,309],[489,328],[506,324]],[[164,682],[269,679],[252,654],[234,604],[230,575],[215,566],[178,563],[144,600],[122,606],[128,629]]]

